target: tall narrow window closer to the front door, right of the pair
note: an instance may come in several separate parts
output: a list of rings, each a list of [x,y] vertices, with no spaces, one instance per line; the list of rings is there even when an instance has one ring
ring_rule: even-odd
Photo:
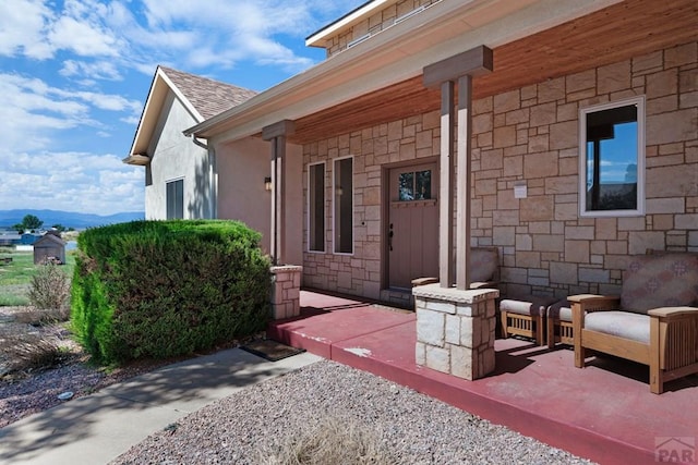
[[[353,253],[353,158],[334,162],[334,243],[336,254]]]

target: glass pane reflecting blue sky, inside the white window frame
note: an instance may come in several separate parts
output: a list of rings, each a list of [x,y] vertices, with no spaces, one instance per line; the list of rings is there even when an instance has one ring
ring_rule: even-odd
[[[587,113],[586,209],[638,208],[637,106]]]

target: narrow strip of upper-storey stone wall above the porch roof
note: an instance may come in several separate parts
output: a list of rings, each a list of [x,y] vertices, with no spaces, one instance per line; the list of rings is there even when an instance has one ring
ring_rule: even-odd
[[[373,14],[356,24],[349,29],[327,39],[327,58],[342,50],[346,50],[349,44],[366,34],[375,34],[386,29],[395,24],[395,20],[413,11],[422,5],[428,7],[441,0],[400,0],[384,10]]]

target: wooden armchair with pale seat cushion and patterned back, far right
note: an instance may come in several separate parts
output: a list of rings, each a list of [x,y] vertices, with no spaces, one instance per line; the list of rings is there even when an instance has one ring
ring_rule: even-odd
[[[569,296],[575,366],[587,350],[649,366],[650,391],[698,372],[698,256],[633,257],[621,296]]]

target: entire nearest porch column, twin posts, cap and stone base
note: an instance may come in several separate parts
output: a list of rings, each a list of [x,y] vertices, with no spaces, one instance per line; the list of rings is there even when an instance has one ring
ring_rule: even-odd
[[[495,302],[500,291],[470,290],[470,151],[472,76],[492,71],[492,50],[482,46],[424,68],[424,85],[441,87],[440,282],[412,290],[417,313],[418,365],[465,379],[494,369]],[[458,188],[453,182],[454,87],[458,83]],[[456,249],[453,217],[456,197]],[[455,261],[455,267],[454,267]],[[454,284],[456,269],[456,286]]]

